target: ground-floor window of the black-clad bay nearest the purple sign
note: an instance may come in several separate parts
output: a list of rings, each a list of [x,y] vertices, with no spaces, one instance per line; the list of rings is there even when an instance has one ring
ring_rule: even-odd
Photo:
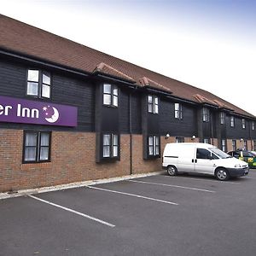
[[[119,156],[119,136],[103,134],[103,158],[117,158]]]

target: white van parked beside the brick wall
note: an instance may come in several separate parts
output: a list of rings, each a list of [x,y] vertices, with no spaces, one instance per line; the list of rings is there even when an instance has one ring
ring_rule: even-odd
[[[167,143],[162,166],[171,176],[177,172],[195,172],[210,174],[219,180],[241,177],[249,172],[246,162],[207,143]]]

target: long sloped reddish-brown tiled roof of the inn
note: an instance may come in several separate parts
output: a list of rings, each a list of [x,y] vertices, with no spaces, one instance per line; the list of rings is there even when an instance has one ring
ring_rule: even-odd
[[[154,73],[4,15],[0,15],[0,48],[54,62],[56,65],[79,69],[86,73],[98,71],[130,80],[140,86],[148,84],[157,90],[172,92],[172,96],[192,102],[200,102],[201,100],[196,97],[200,95],[207,101],[215,102],[218,108],[228,108],[236,113],[254,117],[206,90]]]

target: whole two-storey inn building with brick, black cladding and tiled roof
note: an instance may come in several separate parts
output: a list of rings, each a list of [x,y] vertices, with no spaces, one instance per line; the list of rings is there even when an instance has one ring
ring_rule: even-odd
[[[160,171],[171,142],[256,149],[230,102],[3,15],[0,99],[0,192]]]

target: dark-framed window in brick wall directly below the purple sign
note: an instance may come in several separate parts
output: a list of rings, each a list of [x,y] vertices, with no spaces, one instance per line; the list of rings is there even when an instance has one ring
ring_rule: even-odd
[[[23,143],[23,162],[49,161],[50,152],[49,131],[25,131]]]

